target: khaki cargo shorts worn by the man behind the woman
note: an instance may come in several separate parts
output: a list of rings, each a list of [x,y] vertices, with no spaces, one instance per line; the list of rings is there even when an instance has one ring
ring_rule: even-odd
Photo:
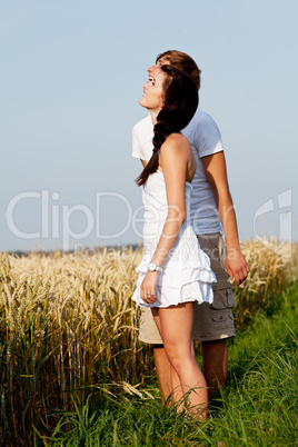
[[[213,302],[209,305],[195,302],[193,340],[213,341],[235,336],[232,308],[234,292],[225,270],[225,242],[221,234],[198,236],[201,249],[209,256],[211,269],[217,282],[212,285]],[[151,309],[141,308],[140,341],[151,345],[162,345],[155,324]]]

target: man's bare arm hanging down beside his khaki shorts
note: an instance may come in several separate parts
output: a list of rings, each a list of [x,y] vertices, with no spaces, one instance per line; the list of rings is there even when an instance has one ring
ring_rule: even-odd
[[[227,168],[224,152],[217,152],[201,158],[207,179],[212,189],[219,218],[225,231],[227,258],[226,269],[237,286],[241,284],[249,272],[247,261],[241,254],[237,221],[232,198],[229,190]]]

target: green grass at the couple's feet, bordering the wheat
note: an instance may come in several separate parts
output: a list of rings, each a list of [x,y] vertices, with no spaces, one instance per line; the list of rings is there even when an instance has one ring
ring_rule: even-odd
[[[127,393],[119,388],[115,394],[107,388],[100,401],[96,393],[83,405],[77,401],[74,413],[57,416],[57,427],[50,438],[43,438],[44,445],[298,445],[297,296],[298,284],[285,294],[275,315],[258,315],[230,342],[228,383],[211,403],[208,421],[186,423],[183,415],[167,411],[152,375],[147,388]]]

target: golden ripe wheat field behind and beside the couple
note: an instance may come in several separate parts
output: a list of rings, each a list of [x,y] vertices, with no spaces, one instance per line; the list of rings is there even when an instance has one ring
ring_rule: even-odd
[[[238,328],[276,305],[297,278],[298,259],[296,245],[274,239],[245,241],[242,251],[250,275],[235,288]],[[1,441],[28,441],[32,425],[48,433],[73,394],[139,393],[153,370],[131,300],[141,256],[141,247],[0,255]]]

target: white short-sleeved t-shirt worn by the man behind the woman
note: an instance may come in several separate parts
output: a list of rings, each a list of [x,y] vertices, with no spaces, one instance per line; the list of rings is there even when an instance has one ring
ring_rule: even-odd
[[[201,157],[224,150],[220,131],[215,120],[197,109],[192,120],[181,130],[191,145],[196,157],[197,170],[192,180],[190,213],[197,235],[207,235],[222,230],[215,197],[207,180]],[[152,156],[153,125],[151,116],[137,122],[132,129],[132,157],[149,161]]]

